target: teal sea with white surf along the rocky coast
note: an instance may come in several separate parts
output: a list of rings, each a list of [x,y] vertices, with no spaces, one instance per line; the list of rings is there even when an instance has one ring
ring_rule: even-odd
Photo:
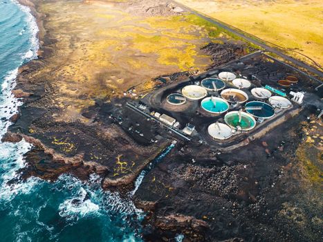
[[[37,57],[37,25],[29,9],[0,0],[0,138],[22,103],[11,90],[18,67]],[[55,183],[19,179],[30,144],[0,143],[0,241],[141,241],[145,215],[130,198],[104,192],[100,178],[70,175]],[[15,180],[13,183],[10,181]]]

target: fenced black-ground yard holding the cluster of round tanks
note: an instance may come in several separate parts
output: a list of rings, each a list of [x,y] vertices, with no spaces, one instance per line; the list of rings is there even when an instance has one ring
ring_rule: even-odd
[[[313,87],[308,76],[257,52],[165,83],[127,106],[174,138],[228,150],[248,145],[293,118]],[[147,125],[138,125],[140,129],[143,138]],[[154,140],[151,133],[146,136]]]

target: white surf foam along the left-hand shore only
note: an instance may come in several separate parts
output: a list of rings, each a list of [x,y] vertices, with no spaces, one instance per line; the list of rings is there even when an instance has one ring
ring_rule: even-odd
[[[19,8],[26,13],[26,21],[30,29],[30,50],[21,59],[21,64],[35,59],[39,48],[39,41],[37,39],[38,27],[35,17],[31,15],[30,9],[16,3]],[[18,113],[18,107],[22,104],[21,100],[15,98],[12,94],[12,89],[15,88],[15,79],[17,77],[18,68],[8,71],[6,77],[1,84],[1,97],[0,97],[0,139],[6,133],[10,126],[9,118]],[[17,194],[26,194],[33,190],[33,187],[39,183],[37,178],[29,178],[24,182],[8,183],[10,180],[19,176],[18,170],[25,167],[24,153],[31,149],[32,145],[28,144],[25,140],[21,140],[17,144],[9,142],[0,142],[0,159],[1,174],[0,174],[0,201],[11,201]]]

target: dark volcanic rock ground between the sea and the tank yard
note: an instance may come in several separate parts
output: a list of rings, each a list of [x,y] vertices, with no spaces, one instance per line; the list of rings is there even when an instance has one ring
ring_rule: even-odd
[[[111,98],[111,102],[95,100],[82,112],[84,117],[89,117],[86,122],[55,120],[56,114],[62,113],[62,109],[53,106],[59,87],[48,81],[50,73],[39,75],[37,71],[46,67],[55,55],[57,39],[46,30],[48,16],[37,12],[41,3],[19,2],[28,6],[36,17],[40,39],[39,58],[19,68],[17,86],[12,92],[24,100],[24,105],[19,115],[12,116],[14,124],[2,140],[19,142],[24,138],[34,145],[26,153],[28,167],[22,171],[22,178],[38,176],[55,180],[61,174],[71,173],[86,180],[95,173],[102,178],[103,189],[129,192],[140,171],[169,145],[170,136],[165,134],[166,138],[158,140],[157,145],[133,141],[135,136],[129,134],[128,128],[118,126],[120,112],[133,117],[133,127],[140,118],[121,109],[127,97]],[[165,1],[158,1],[147,15],[163,13],[165,8],[171,9],[165,6]],[[144,8],[141,4],[134,9]],[[209,48],[219,51],[217,46]],[[320,232],[315,226],[320,224],[320,212],[315,204],[320,199],[313,196],[313,201],[308,199],[308,205],[299,202],[308,195],[308,186],[302,184],[306,180],[299,174],[302,162],[295,157],[300,142],[293,141],[306,136],[299,134],[299,123],[310,114],[304,111],[293,122],[279,126],[275,133],[267,133],[234,152],[216,154],[207,147],[178,143],[145,176],[135,194],[136,206],[147,211],[144,239],[172,241],[178,234],[185,236],[183,241],[315,241],[319,238]],[[287,145],[278,149],[282,141]],[[311,215],[306,214],[308,210]]]

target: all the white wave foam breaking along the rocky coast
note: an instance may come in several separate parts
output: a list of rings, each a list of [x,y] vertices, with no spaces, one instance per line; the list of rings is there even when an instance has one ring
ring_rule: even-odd
[[[17,3],[17,1],[14,1]],[[37,50],[39,48],[39,41],[37,39],[37,24],[35,18],[30,13],[30,9],[26,6],[22,6],[17,3],[19,8],[26,12],[28,23],[30,24],[29,29],[31,32],[30,36],[30,50],[25,55],[22,55],[21,64],[27,62],[30,59],[37,57]],[[18,106],[22,104],[21,100],[18,100],[12,95],[12,89],[15,88],[15,78],[17,77],[18,69],[8,72],[6,80],[1,85],[1,97],[0,97],[0,138],[6,133],[10,122],[8,119],[13,114],[17,113]],[[25,140],[21,140],[17,144],[12,143],[0,143],[0,158],[5,160],[1,162],[0,169],[3,171],[0,174],[0,203],[10,202],[15,198],[17,194],[28,194],[32,191],[35,192],[36,187],[39,187],[44,181],[39,178],[29,178],[28,180],[17,183],[8,183],[10,180],[17,178],[19,174],[17,171],[23,168],[26,164],[24,162],[24,153],[30,150],[29,145]],[[102,212],[116,212],[121,215],[124,220],[129,215],[136,215],[137,219],[142,219],[145,213],[139,210],[134,205],[130,198],[122,198],[120,194],[116,192],[105,192],[102,190],[100,185],[100,178],[98,176],[91,176],[88,183],[82,183],[73,176],[62,175],[56,182],[64,183],[64,187],[61,189],[66,191],[69,189],[71,197],[63,201],[59,205],[59,215],[65,218],[80,218],[82,216],[89,216],[90,214],[100,214]],[[59,189],[59,188],[58,188]],[[48,227],[48,230],[51,228]],[[17,231],[19,231],[17,229]],[[20,240],[20,236],[26,236],[24,232],[19,233],[17,241]],[[134,240],[134,237],[129,240]]]

